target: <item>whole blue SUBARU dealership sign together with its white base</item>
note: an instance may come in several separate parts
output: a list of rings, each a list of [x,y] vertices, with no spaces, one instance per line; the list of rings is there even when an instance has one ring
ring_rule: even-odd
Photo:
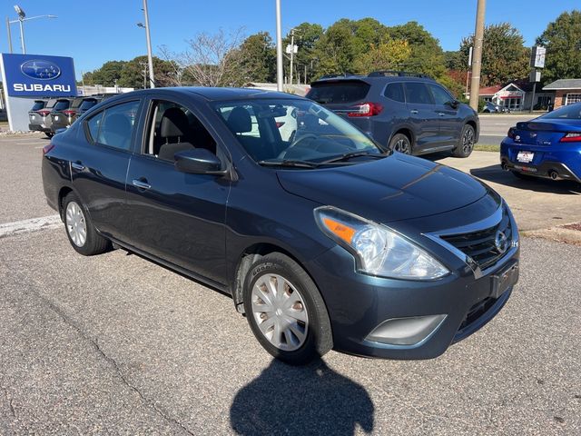
[[[72,57],[45,54],[0,56],[6,112],[12,131],[28,129],[28,111],[34,98],[77,94]]]

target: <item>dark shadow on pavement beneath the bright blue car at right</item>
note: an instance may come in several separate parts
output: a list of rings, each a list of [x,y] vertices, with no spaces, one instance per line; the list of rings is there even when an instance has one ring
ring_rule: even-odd
[[[581,194],[581,183],[568,180],[549,180],[531,176],[528,179],[518,179],[514,174],[504,171],[499,164],[473,168],[470,174],[487,182],[512,186],[517,189],[535,191],[537,193],[558,193],[564,195]]]

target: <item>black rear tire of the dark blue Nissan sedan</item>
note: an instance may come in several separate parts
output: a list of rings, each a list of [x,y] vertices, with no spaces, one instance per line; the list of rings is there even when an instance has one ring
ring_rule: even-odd
[[[71,205],[70,211],[69,205]],[[79,225],[77,227],[82,227],[82,224],[84,223],[84,241],[79,240],[78,236],[76,236],[78,233],[74,232],[75,213],[73,211],[78,211],[78,213],[82,215],[82,220],[78,220],[77,224]],[[69,238],[69,243],[71,243],[77,253],[81,253],[84,256],[93,256],[94,254],[105,253],[111,249],[111,242],[96,232],[93,222],[91,221],[91,218],[87,213],[84,204],[81,203],[79,198],[74,193],[68,193],[66,197],[64,197],[63,221],[64,231],[66,232],[66,236]]]

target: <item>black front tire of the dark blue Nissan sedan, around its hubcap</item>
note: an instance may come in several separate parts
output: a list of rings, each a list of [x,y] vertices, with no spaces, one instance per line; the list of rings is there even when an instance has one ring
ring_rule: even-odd
[[[283,308],[284,303],[281,303],[281,300],[277,300],[276,295],[273,295],[271,291],[265,292],[263,298],[273,298],[273,300],[277,301],[277,303],[274,303],[277,310],[275,312],[271,311],[271,316],[268,316],[266,312],[255,312],[252,306],[253,301],[256,303],[264,303],[256,293],[252,292],[252,290],[257,282],[268,275],[271,275],[268,279],[269,282],[275,283],[272,284],[275,291],[279,288],[279,283],[277,278],[274,276],[276,275],[284,279],[285,282],[281,283],[281,289],[284,289],[282,295],[284,295],[285,301],[294,302],[291,306],[285,309]],[[260,289],[266,288],[261,288],[259,282],[257,291]],[[294,292],[298,292],[298,294],[295,294]],[[254,336],[267,352],[270,352],[272,356],[282,362],[291,365],[304,365],[320,358],[320,356],[329,352],[333,347],[329,313],[327,312],[325,302],[323,302],[320,292],[315,283],[310,279],[309,274],[288,256],[285,256],[282,253],[270,253],[261,257],[260,260],[252,264],[251,269],[244,280],[242,297],[244,300],[246,318],[251,326],[251,331],[254,333]],[[302,304],[303,302],[304,305]],[[301,316],[306,318],[307,322],[300,322],[292,314],[290,316],[288,315],[288,313],[291,311],[297,311],[297,309],[301,313],[305,312],[302,313]],[[284,331],[279,330],[280,334],[278,334],[278,338],[285,341],[280,341],[280,346],[276,346],[271,342],[276,340],[269,339],[266,334],[261,331],[257,318],[263,320],[261,323],[269,322],[272,318],[273,321],[270,322],[270,324],[272,324],[272,330],[270,331],[272,332],[272,338],[275,337],[275,332],[277,332],[276,329],[278,323],[276,320],[282,320],[282,322],[285,322],[283,318],[286,320],[292,320],[294,322],[287,322],[287,324],[293,327],[293,331],[300,329],[300,332],[304,333],[304,339],[301,341],[299,336],[291,334],[291,341],[286,340],[285,338],[289,337],[286,333],[291,333],[291,329],[284,327]],[[275,325],[277,327],[275,327]],[[263,328],[266,329],[266,327]],[[268,333],[268,331],[266,333]],[[285,350],[285,348],[292,348],[293,346],[298,348],[294,350]]]

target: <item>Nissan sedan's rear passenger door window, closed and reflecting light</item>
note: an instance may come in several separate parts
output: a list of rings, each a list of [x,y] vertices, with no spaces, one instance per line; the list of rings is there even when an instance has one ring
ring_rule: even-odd
[[[139,101],[117,104],[92,116],[87,126],[94,142],[129,150],[139,104]]]

